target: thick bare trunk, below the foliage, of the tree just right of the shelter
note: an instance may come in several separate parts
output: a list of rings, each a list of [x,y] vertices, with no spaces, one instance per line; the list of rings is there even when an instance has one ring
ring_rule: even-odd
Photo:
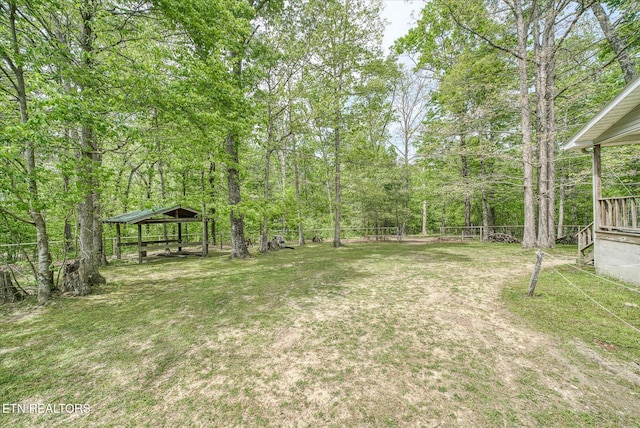
[[[246,259],[251,257],[244,239],[244,217],[240,213],[238,205],[242,200],[240,196],[240,172],[238,145],[235,137],[228,134],[225,141],[225,151],[229,159],[227,163],[227,183],[229,187],[229,221],[231,224],[231,258]]]

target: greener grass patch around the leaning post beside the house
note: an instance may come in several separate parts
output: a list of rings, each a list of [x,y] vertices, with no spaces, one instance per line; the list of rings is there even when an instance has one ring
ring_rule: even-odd
[[[634,305],[640,306],[640,287],[576,265],[543,270],[532,298],[522,292],[528,281],[525,277],[512,282],[503,295],[509,309],[531,326],[563,341],[594,344],[616,358],[639,360],[640,308]]]

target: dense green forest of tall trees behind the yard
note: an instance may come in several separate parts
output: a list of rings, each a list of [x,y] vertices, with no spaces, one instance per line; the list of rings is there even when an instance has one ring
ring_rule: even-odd
[[[87,294],[102,221],[176,205],[232,258],[452,226],[549,248],[590,223],[590,156],[561,148],[637,78],[638,2],[432,0],[389,50],[394,3],[0,1],[0,263],[44,303],[76,258]],[[603,162],[638,194],[637,148]]]

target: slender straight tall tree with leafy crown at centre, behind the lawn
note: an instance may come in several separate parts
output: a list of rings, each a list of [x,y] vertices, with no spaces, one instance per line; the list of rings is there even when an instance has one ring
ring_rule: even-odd
[[[317,119],[330,130],[333,163],[333,245],[341,245],[342,159],[348,106],[363,69],[382,51],[381,2],[311,0],[307,3],[307,40],[314,48],[307,79],[313,79]]]

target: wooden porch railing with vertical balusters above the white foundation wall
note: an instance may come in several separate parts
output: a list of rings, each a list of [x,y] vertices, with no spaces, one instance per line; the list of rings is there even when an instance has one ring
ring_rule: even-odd
[[[598,200],[598,230],[640,233],[640,196]]]

